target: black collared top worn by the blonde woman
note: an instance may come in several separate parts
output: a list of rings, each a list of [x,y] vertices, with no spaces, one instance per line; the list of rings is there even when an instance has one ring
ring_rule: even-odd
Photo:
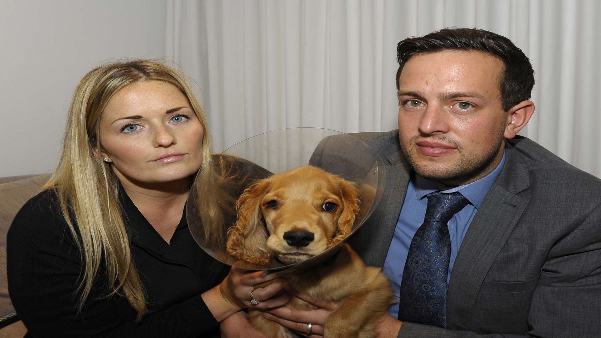
[[[218,337],[218,322],[200,294],[220,283],[229,266],[198,247],[185,210],[169,245],[123,189],[121,203],[150,313],[135,322],[126,298],[108,297],[102,268],[78,313],[81,254],[48,190],[25,203],[7,236],[8,287],[26,337]]]

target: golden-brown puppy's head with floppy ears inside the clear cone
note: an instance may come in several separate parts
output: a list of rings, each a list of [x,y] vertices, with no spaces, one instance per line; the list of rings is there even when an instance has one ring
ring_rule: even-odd
[[[267,265],[296,263],[322,253],[352,230],[359,212],[355,183],[316,167],[299,167],[247,188],[228,230],[228,253]]]

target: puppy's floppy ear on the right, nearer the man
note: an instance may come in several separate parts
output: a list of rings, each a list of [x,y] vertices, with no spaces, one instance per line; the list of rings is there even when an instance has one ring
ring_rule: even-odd
[[[338,218],[338,231],[332,239],[328,248],[333,247],[338,242],[342,241],[346,236],[349,236],[353,230],[355,217],[359,214],[359,190],[357,185],[347,180],[338,180],[338,191],[342,198],[342,214]]]

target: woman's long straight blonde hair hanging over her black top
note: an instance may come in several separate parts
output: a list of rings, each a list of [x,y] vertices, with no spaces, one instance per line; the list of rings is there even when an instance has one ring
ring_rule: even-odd
[[[79,310],[104,263],[112,286],[107,296],[116,293],[126,297],[138,313],[138,320],[146,313],[147,303],[121,217],[119,182],[109,164],[98,158],[94,149],[102,149],[99,121],[111,97],[126,85],[145,80],[168,82],[188,97],[204,129],[202,167],[210,163],[206,119],[184,76],[158,61],[115,62],[91,70],[79,82],[69,108],[58,167],[44,186],[44,189],[55,189],[61,211],[82,253]],[[208,180],[208,175],[209,171],[201,173],[197,180]]]

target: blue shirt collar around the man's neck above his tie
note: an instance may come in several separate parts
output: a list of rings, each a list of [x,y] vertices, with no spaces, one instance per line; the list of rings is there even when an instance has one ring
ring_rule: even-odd
[[[481,179],[468,183],[462,186],[456,186],[454,188],[449,188],[445,186],[441,182],[426,179],[425,177],[421,177],[418,174],[413,174],[411,180],[413,181],[413,185],[415,185],[415,194],[418,200],[426,197],[427,194],[430,194],[435,191],[442,192],[456,192],[459,191],[465,198],[468,198],[469,203],[478,209],[484,197],[490,190],[492,183],[495,183],[497,177],[501,173],[503,165],[505,164],[505,152],[503,152],[503,158],[501,162],[496,166],[495,170],[491,171],[486,176]]]

